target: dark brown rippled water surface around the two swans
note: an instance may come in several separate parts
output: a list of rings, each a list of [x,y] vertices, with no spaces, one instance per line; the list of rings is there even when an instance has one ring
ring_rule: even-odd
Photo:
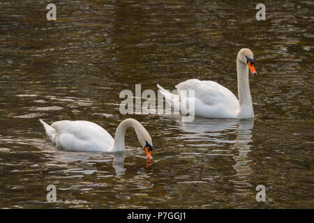
[[[313,1],[0,2],[0,208],[314,208]],[[120,91],[211,79],[237,93],[236,56],[254,52],[255,119],[122,115]],[[47,123],[133,130],[124,154],[61,151]],[[57,202],[46,201],[56,185]],[[255,200],[265,185],[267,201]]]

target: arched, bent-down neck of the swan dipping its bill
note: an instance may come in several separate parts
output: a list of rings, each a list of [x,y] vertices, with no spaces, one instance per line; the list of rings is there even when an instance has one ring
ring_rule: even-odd
[[[122,121],[117,130],[116,133],[114,134],[114,147],[112,149],[112,151],[117,152],[117,151],[124,151],[124,149],[126,148],[125,144],[124,144],[124,136],[126,134],[126,129],[132,127],[135,129],[135,132],[137,134],[137,138],[140,139],[140,131],[142,130],[142,128],[144,128],[142,126],[141,123],[139,123],[138,121],[136,121],[133,118],[127,118],[126,120]]]

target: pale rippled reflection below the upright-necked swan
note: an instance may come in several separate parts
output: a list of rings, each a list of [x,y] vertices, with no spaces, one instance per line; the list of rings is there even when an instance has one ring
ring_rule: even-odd
[[[253,174],[253,170],[248,165],[248,162],[252,161],[248,157],[248,153],[251,151],[250,143],[253,141],[253,118],[220,120],[195,117],[193,122],[183,123],[178,119],[178,123],[180,123],[179,128],[184,131],[180,138],[188,142],[188,146],[193,146],[194,149],[195,147],[200,148],[200,146],[206,148],[208,146],[223,146],[223,150],[215,150],[219,152],[215,155],[226,155],[227,152],[233,153],[230,155],[232,155],[232,160],[235,162],[232,165],[235,174],[230,181],[234,185],[234,190],[242,195],[251,191],[251,184],[246,180],[248,176]],[[230,137],[234,136],[235,139],[230,140]],[[230,146],[226,144],[230,144]]]

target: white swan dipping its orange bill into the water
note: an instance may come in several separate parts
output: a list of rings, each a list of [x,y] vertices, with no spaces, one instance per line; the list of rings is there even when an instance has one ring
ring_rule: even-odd
[[[146,152],[147,159],[153,158],[151,136],[144,126],[133,118],[127,118],[119,124],[114,138],[100,125],[90,121],[57,121],[52,125],[48,125],[41,119],[39,121],[43,124],[51,141],[57,146],[66,151],[80,152],[124,151],[124,134],[127,128],[132,127]]]

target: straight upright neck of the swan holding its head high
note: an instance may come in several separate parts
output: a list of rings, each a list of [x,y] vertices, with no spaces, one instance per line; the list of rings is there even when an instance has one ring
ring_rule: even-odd
[[[253,118],[253,104],[251,98],[250,84],[248,82],[248,66],[237,57],[237,79],[238,97],[240,111],[238,118]]]

